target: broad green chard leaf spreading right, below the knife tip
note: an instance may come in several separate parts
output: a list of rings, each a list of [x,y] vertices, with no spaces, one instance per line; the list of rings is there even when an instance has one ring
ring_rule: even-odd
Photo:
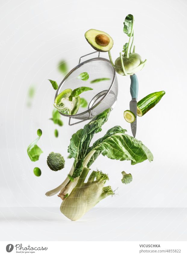
[[[110,159],[131,160],[132,165],[147,159],[150,162],[153,160],[151,151],[141,141],[125,134],[120,126],[116,126],[115,129],[119,131],[104,135],[93,144],[92,150],[101,151],[103,156]]]

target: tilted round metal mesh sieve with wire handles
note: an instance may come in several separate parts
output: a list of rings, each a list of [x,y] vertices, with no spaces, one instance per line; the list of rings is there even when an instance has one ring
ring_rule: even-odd
[[[81,59],[83,57],[86,57],[96,52],[92,52],[80,57],[79,64],[75,68],[73,68],[66,75],[66,77],[64,77],[55,94],[56,99],[58,94],[60,94],[65,89],[74,90],[81,86],[91,87],[93,89],[83,92],[79,95],[81,98],[84,98],[88,103],[88,107],[86,110],[85,108],[80,106],[76,115],[65,115],[59,112],[61,115],[69,117],[69,125],[75,125],[83,121],[92,119],[95,115],[100,114],[105,109],[113,109],[116,105],[118,94],[118,82],[116,71],[114,67],[111,65],[111,62],[108,59],[99,57],[100,52],[97,52],[98,57],[91,58],[84,62],[81,62]],[[83,72],[87,72],[89,74],[89,79],[87,81],[77,79],[79,74]],[[103,77],[110,78],[110,80],[105,80],[92,84],[90,83],[90,81],[92,80]],[[71,124],[71,118],[79,119],[81,121],[74,122]]]

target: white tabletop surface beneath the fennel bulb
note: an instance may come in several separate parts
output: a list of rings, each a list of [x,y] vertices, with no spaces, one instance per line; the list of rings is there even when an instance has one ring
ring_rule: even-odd
[[[187,209],[93,208],[70,221],[58,208],[1,208],[0,241],[186,241]]]

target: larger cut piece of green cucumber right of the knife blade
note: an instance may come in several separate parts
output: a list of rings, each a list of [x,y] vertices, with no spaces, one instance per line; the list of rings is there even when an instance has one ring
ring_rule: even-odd
[[[155,92],[150,93],[149,95],[145,96],[142,100],[137,103],[137,115],[142,116],[145,115],[150,109],[152,109],[164,96],[165,92]]]

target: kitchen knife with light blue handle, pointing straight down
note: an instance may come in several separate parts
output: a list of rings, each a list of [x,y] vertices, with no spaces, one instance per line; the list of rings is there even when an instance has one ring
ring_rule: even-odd
[[[130,76],[130,94],[132,96],[132,100],[130,101],[130,111],[135,114],[135,121],[130,124],[132,135],[136,136],[136,127],[137,127],[137,98],[138,98],[138,78],[136,74]]]

